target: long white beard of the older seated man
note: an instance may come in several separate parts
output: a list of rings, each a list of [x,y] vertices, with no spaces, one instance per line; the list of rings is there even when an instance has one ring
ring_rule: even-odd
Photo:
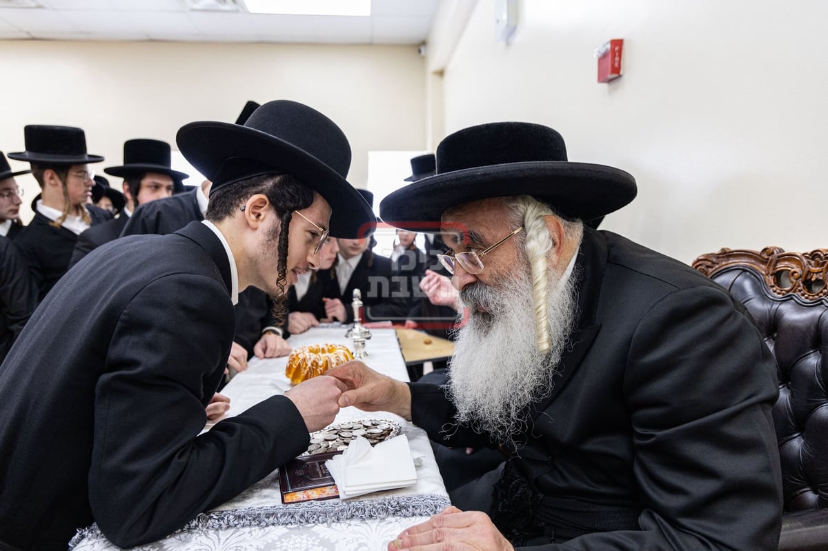
[[[447,390],[456,420],[505,443],[528,427],[526,406],[543,400],[555,385],[555,367],[569,345],[577,308],[575,273],[566,282],[550,275],[550,350],[538,352],[534,299],[528,266],[497,287],[477,282],[460,298],[472,314],[455,338]],[[489,314],[477,312],[482,306]]]

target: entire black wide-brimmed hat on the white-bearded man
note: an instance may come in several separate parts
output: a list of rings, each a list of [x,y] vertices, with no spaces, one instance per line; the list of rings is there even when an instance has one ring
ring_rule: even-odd
[[[423,231],[445,210],[490,197],[531,195],[566,218],[591,220],[635,199],[632,175],[605,165],[567,161],[561,135],[530,122],[493,122],[445,137],[436,175],[388,194],[383,221]]]

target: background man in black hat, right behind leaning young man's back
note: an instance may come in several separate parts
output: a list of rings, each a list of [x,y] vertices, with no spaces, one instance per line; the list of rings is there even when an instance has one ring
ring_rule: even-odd
[[[70,266],[96,247],[121,236],[132,213],[141,204],[171,197],[176,180],[190,175],[172,170],[170,144],[161,140],[135,139],[123,143],[123,165],[103,169],[109,175],[123,178],[125,208],[118,218],[81,233],[72,253]]]

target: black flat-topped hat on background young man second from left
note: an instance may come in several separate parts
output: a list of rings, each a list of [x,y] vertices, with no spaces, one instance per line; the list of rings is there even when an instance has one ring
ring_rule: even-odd
[[[48,165],[85,165],[99,163],[103,157],[86,153],[82,128],[50,124],[28,124],[23,128],[26,151],[9,153],[9,159]]]

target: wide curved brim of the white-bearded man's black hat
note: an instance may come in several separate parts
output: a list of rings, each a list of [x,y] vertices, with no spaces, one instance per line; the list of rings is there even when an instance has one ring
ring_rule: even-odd
[[[455,170],[417,180],[388,194],[383,221],[421,231],[445,210],[491,197],[531,195],[568,218],[591,220],[629,204],[637,194],[628,172],[605,165],[528,161]]]

